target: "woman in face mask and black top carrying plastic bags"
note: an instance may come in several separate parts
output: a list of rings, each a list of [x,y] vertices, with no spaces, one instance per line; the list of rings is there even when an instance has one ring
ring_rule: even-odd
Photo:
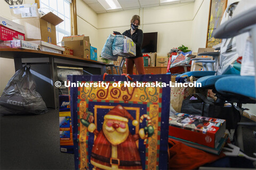
[[[138,27],[140,25],[140,16],[133,15],[131,19],[131,29],[124,31],[123,35],[129,37],[136,44],[136,56],[126,58],[127,74],[133,74],[134,64],[139,74],[145,74],[143,55],[141,53],[141,45],[143,41],[143,31]]]

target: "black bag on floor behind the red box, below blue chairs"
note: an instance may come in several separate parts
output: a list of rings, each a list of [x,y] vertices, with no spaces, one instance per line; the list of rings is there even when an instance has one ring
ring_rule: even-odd
[[[190,100],[193,96],[197,99]],[[233,104],[218,105],[202,94],[190,95],[183,100],[181,113],[224,119],[227,121],[226,129],[235,129],[237,123],[241,120],[241,114],[236,106]]]

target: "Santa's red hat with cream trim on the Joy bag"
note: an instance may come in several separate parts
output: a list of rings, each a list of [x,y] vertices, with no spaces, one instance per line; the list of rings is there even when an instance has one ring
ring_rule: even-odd
[[[134,120],[132,115],[126,111],[126,109],[121,106],[117,105],[111,111],[109,111],[105,116],[104,119],[111,119],[111,120],[118,120],[122,122],[127,122],[130,119],[132,121],[133,126],[137,126],[139,122],[137,120]]]

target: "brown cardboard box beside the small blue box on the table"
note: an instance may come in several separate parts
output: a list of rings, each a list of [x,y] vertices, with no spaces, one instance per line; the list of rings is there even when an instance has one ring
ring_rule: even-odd
[[[90,38],[89,36],[69,36],[63,37],[61,42],[62,47],[73,49],[74,56],[86,59],[91,58]]]

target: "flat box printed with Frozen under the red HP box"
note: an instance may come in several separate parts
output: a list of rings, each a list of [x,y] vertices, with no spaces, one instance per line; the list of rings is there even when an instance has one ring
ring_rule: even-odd
[[[41,46],[24,40],[0,41],[0,48],[23,48],[41,50]]]

